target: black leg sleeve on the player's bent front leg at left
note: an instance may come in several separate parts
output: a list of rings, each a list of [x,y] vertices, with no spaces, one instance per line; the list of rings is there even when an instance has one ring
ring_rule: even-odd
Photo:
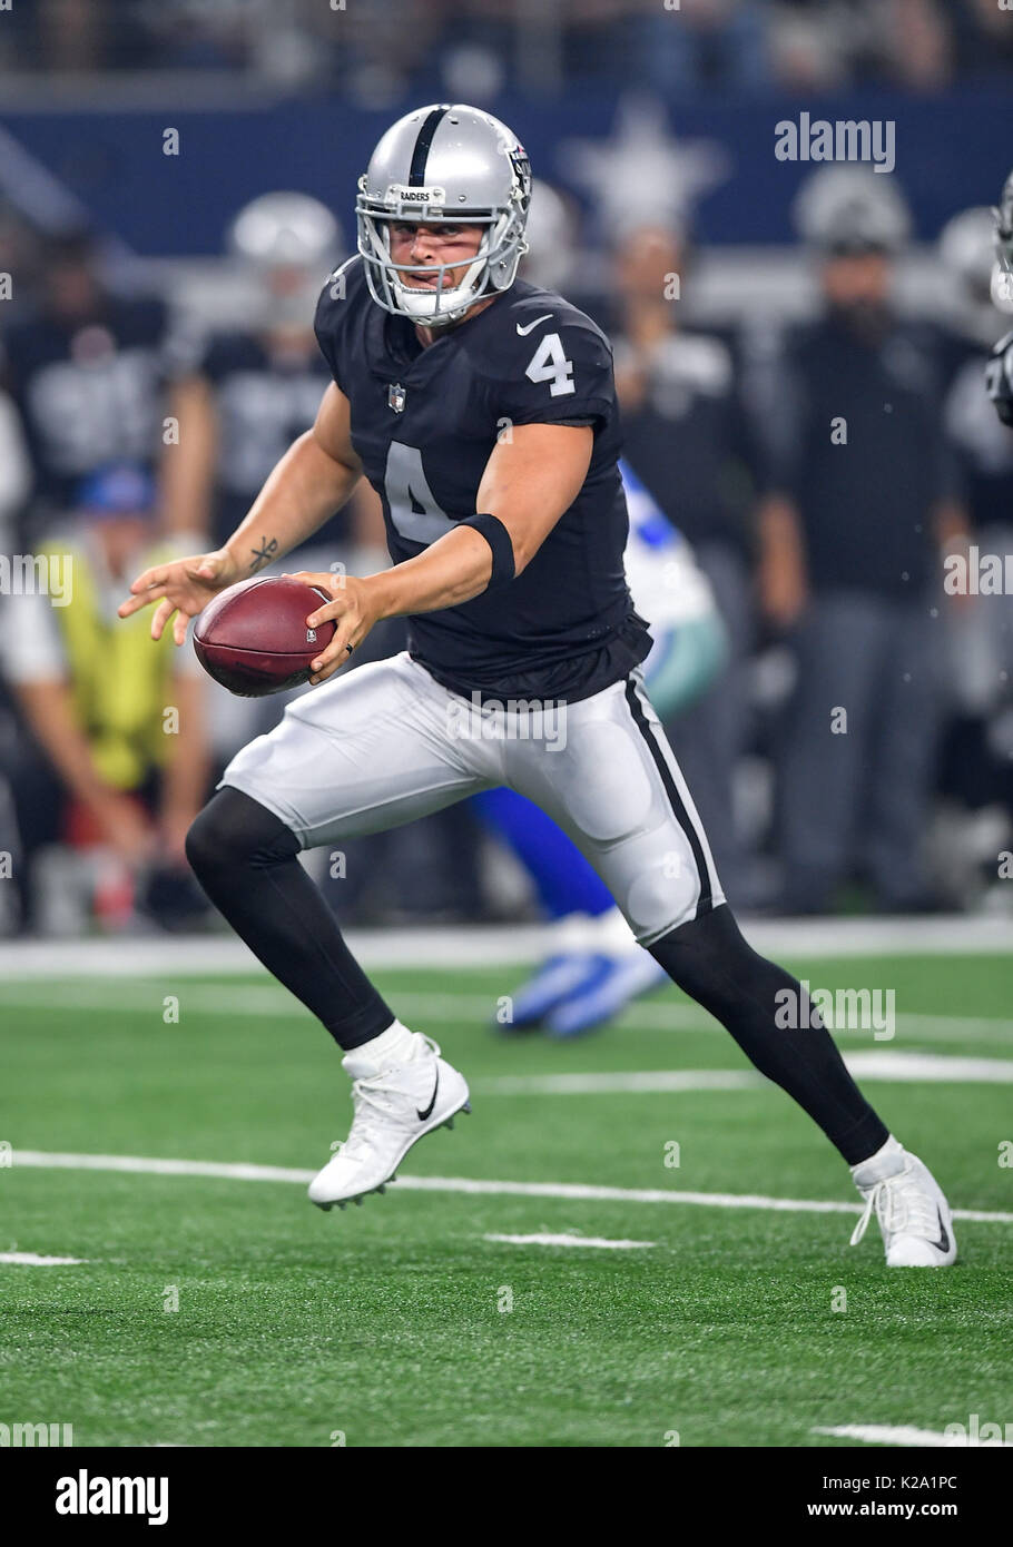
[[[193,874],[240,939],[342,1047],[359,1047],[387,1030],[394,1015],[345,945],[297,854],[294,832],[229,784],[187,834]]]

